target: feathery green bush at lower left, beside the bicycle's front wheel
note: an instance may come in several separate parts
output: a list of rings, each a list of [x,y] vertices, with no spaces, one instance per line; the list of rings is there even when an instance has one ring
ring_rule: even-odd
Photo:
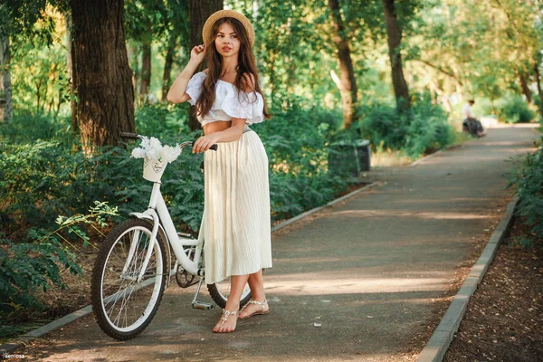
[[[70,235],[82,239],[86,246],[90,238],[80,226],[107,227],[107,218],[115,214],[116,209],[95,202],[87,214],[57,217],[52,232],[30,229],[27,243],[0,237],[0,317],[7,319],[22,310],[42,309],[36,291],[48,291],[53,285],[64,289],[62,268],[81,274]]]

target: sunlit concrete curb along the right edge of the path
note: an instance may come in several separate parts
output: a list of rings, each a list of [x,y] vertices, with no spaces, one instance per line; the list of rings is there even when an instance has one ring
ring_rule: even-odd
[[[513,214],[518,203],[519,197],[515,196],[511,199],[509,205],[507,205],[507,209],[500,220],[500,224],[498,224],[494,233],[492,233],[491,239],[481,252],[479,259],[472,266],[472,271],[463,282],[460,291],[456,293],[451,305],[443,315],[441,322],[433,331],[432,337],[428,340],[428,343],[426,343],[417,362],[443,361],[443,357],[451,345],[452,338],[454,338],[454,333],[456,333],[460,327],[470,298],[477,290],[485,272],[489,269],[489,266],[494,259],[494,255],[500,247],[500,243],[503,242],[503,239],[505,239],[507,233],[510,231]]]

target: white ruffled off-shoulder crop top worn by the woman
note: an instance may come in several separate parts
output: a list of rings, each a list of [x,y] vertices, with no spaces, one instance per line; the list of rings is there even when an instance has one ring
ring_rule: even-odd
[[[202,93],[202,86],[207,74],[204,71],[195,73],[186,84],[186,94],[190,96],[188,102],[196,104]],[[264,100],[257,91],[246,92],[240,90],[240,96],[235,86],[228,81],[218,80],[215,85],[215,100],[211,110],[206,115],[197,115],[202,126],[218,120],[247,119],[246,125],[261,123],[264,120]]]

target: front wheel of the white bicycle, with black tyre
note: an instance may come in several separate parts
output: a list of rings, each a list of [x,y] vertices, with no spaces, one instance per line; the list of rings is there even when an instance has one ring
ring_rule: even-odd
[[[143,278],[153,225],[132,219],[114,228],[92,271],[92,310],[100,329],[119,340],[136,337],[157,312],[167,281],[166,246],[157,234]]]

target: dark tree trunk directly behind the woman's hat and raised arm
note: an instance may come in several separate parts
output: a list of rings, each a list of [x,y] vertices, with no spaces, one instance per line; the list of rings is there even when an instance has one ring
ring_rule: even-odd
[[[209,15],[223,9],[223,0],[188,0],[188,19],[190,24],[190,48],[192,50],[196,45],[200,45],[202,40],[202,28]],[[205,64],[200,65],[203,69]],[[196,119],[195,107],[191,107],[188,115],[188,127],[190,129],[201,129],[202,126]]]

